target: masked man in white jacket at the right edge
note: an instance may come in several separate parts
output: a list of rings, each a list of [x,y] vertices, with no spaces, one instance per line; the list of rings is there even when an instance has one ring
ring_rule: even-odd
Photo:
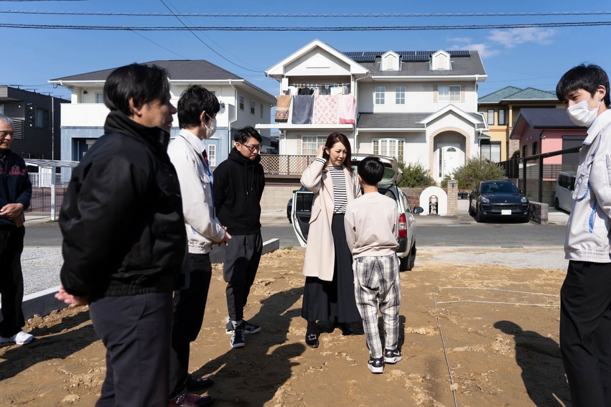
[[[609,77],[597,65],[579,65],[562,76],[556,95],[573,123],[588,128],[567,225],[560,349],[573,406],[611,406]]]

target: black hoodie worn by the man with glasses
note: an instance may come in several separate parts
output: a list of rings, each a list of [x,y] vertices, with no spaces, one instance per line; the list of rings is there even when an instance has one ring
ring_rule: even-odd
[[[260,156],[248,159],[234,147],[229,158],[214,170],[214,209],[229,234],[261,232],[260,201],[265,176],[260,161]]]

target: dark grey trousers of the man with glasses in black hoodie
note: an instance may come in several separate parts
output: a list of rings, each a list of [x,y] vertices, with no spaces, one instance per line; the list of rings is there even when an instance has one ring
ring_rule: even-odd
[[[257,275],[262,251],[263,239],[260,233],[232,235],[225,248],[223,278],[227,283],[227,311],[232,321],[244,318],[244,306]]]

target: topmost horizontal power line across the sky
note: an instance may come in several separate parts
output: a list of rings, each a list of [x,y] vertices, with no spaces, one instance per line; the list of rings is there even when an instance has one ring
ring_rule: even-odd
[[[0,0],[0,1],[83,1],[83,0]],[[175,7],[174,7],[175,8]],[[171,10],[170,10],[171,12]],[[0,13],[43,15],[101,15],[153,17],[501,17],[501,16],[574,16],[610,15],[609,11],[592,12],[499,12],[499,13],[136,13],[136,12],[70,12],[42,10],[0,10]]]

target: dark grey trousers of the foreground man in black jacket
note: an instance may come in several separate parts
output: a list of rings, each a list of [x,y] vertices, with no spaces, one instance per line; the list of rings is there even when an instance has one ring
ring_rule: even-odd
[[[106,347],[96,407],[167,407],[172,293],[104,297],[89,315]]]

